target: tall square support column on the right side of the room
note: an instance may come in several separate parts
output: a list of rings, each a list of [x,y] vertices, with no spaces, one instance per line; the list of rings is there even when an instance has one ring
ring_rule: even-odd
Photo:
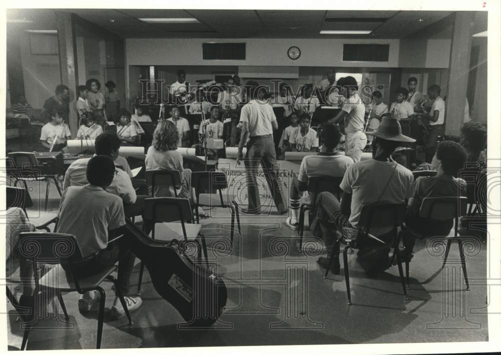
[[[454,25],[452,26],[445,110],[445,134],[450,136],[459,136],[464,119],[473,16],[474,12],[458,11],[455,13]]]

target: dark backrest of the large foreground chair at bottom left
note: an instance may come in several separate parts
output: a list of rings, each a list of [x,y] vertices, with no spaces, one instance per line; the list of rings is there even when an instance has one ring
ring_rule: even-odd
[[[73,234],[23,232],[19,234],[19,252],[28,260],[58,264],[83,259]]]

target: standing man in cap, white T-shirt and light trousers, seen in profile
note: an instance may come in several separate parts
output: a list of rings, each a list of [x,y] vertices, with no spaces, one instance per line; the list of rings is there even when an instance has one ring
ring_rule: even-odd
[[[354,77],[339,79],[338,86],[341,87],[346,101],[336,117],[328,122],[339,124],[344,119],[345,154],[356,163],[360,161],[362,152],[367,145],[367,136],[364,133],[365,105],[357,94],[358,84]]]

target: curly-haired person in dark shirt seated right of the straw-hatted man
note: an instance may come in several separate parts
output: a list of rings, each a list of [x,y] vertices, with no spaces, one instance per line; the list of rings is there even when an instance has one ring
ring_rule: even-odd
[[[466,182],[457,178],[458,171],[466,162],[466,150],[459,143],[442,141],[438,143],[436,154],[431,161],[431,168],[437,171],[435,176],[421,176],[414,182],[414,197],[407,206],[406,225],[421,233],[447,235],[453,220],[429,220],[419,216],[419,207],[425,197],[466,196]],[[415,239],[408,233],[402,234],[406,255],[413,256]]]

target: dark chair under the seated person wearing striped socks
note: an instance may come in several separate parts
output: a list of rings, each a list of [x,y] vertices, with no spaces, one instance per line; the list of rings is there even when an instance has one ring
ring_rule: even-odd
[[[305,231],[305,213],[306,211],[314,211],[315,205],[317,204],[317,196],[321,192],[330,192],[338,199],[341,197],[341,190],[339,184],[341,184],[342,177],[333,176],[317,176],[308,179],[308,192],[310,192],[311,203],[302,203],[299,209],[299,251],[303,248],[303,234]]]

